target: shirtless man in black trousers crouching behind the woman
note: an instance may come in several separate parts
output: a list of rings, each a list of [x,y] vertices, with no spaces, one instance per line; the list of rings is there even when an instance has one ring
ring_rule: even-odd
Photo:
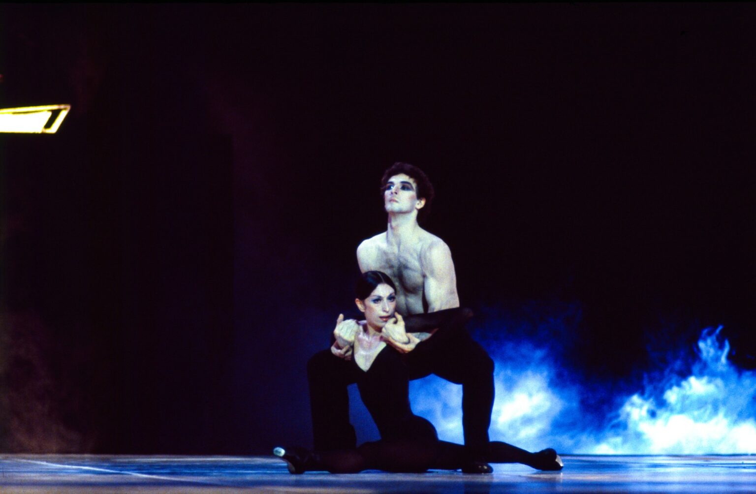
[[[400,314],[459,307],[451,251],[442,239],[418,224],[418,217],[429,211],[433,199],[432,184],[426,174],[414,165],[398,162],[383,174],[382,185],[389,225],[386,232],[359,245],[360,270],[363,273],[380,270],[391,276],[397,288],[396,311]],[[453,338],[438,338],[438,341],[428,336],[420,336],[427,341],[407,353],[410,378],[435,374],[462,384],[462,424],[470,458],[463,471],[491,473],[493,469],[485,462],[485,456],[494,404],[493,360],[466,331],[455,332]],[[401,345],[393,346],[403,350]],[[316,450],[356,446],[355,430],[349,423],[346,389],[352,383],[346,382],[338,370],[339,357],[349,358],[345,350],[348,351],[336,342],[330,350],[315,354],[308,362]]]

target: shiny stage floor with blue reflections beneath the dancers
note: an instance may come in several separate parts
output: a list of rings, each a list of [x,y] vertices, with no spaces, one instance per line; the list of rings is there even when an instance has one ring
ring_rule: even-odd
[[[274,456],[0,455],[0,492],[756,492],[756,455],[562,458],[556,473],[291,475]]]

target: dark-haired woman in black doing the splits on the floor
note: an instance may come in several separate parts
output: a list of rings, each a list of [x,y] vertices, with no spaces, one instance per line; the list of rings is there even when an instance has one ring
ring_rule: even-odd
[[[412,413],[409,379],[402,353],[422,353],[428,343],[412,332],[434,331],[434,341],[454,338],[465,331],[463,323],[471,313],[452,308],[435,313],[407,316],[395,314],[396,289],[386,273],[367,271],[358,280],[357,304],[365,320],[344,321],[339,316],[335,333],[342,348],[349,348],[350,360],[339,360],[342,372],[357,382],[360,396],[376,422],[381,440],[358,448],[309,452],[302,448],[276,448],[274,454],[287,462],[289,471],[327,470],[355,473],[367,469],[422,472],[429,468],[457,470],[469,462],[465,447],[438,440],[429,421]],[[520,462],[541,470],[560,470],[562,462],[553,449],[527,452],[507,443],[492,441],[486,462]]]

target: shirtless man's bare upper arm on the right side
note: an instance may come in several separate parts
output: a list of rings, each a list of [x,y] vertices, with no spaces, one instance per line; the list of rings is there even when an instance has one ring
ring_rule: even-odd
[[[423,289],[428,301],[428,312],[460,307],[457,295],[457,274],[451,261],[449,246],[438,239],[423,253]]]

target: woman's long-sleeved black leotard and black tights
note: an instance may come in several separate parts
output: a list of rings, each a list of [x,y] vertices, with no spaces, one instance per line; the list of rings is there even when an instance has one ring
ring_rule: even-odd
[[[449,341],[455,341],[460,332],[466,331],[464,323],[470,317],[472,311],[463,307],[405,317],[407,332],[431,332],[436,329],[432,338],[418,344],[412,353],[417,352],[415,355],[422,358],[424,350],[435,351],[432,346],[448,346]],[[315,452],[309,458],[306,470],[327,470],[332,473],[355,473],[367,469],[422,472],[428,469],[457,470],[469,462],[468,448],[438,440],[433,425],[412,412],[410,373],[406,365],[408,355],[399,354],[393,347],[386,346],[367,372],[354,361],[339,360],[340,369],[348,374],[345,380],[357,383],[362,401],[373,417],[381,439],[364,443],[356,449]],[[488,421],[485,421],[486,430]],[[488,462],[518,462],[541,469],[553,469],[550,468],[554,465],[553,457],[556,457],[553,450],[531,453],[498,441],[489,443],[485,451]]]

